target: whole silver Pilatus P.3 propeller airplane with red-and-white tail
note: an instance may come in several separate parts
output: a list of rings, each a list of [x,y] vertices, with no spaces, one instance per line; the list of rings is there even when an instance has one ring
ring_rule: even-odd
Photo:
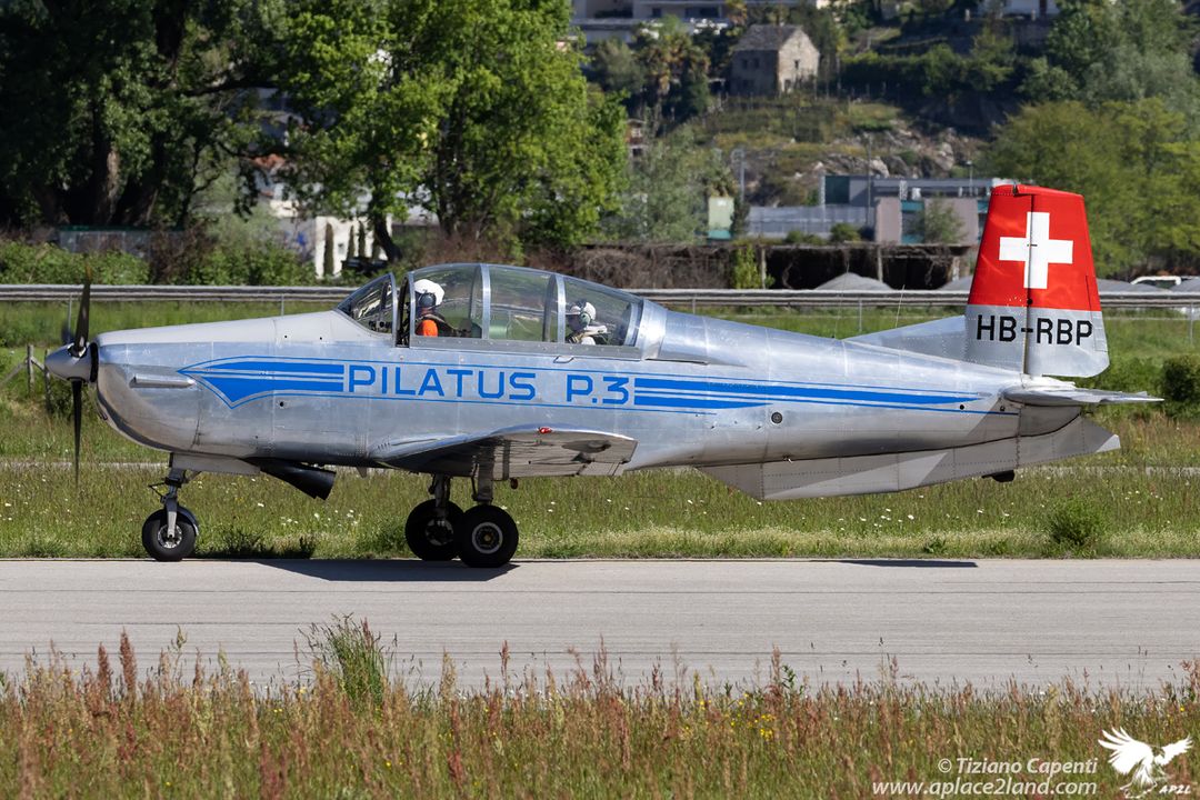
[[[499,264],[385,273],[331,311],[102,333],[90,283],[47,367],[125,437],[169,453],[142,536],[190,555],[199,473],[325,499],[330,467],[428,475],[404,525],[420,559],[499,567],[516,522],[496,483],[695,467],[755,498],[896,492],[1120,446],[1078,387],[1109,363],[1084,199],[994,190],[966,313],[828,339],[668,311]],[[1051,378],[1049,375],[1056,375]],[[451,483],[470,483],[463,511]]]

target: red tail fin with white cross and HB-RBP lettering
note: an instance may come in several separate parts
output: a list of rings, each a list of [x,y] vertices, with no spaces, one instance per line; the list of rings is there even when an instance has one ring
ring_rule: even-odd
[[[966,326],[966,357],[976,363],[1078,377],[1109,366],[1081,196],[992,191]]]

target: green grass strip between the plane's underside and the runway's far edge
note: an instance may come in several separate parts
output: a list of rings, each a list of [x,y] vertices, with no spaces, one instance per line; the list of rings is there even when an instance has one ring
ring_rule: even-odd
[[[541,479],[504,488],[497,503],[521,525],[524,558],[1200,555],[1195,468],[1091,463],[1021,471],[1012,483],[790,503],[760,503],[690,470]],[[142,522],[158,507],[144,487],[161,477],[162,468],[85,465],[76,491],[66,467],[0,467],[0,557],[140,558]],[[202,558],[388,558],[409,554],[404,518],[427,486],[346,471],[322,503],[265,476],[202,475],[182,499],[200,522]],[[1103,510],[1103,534],[1054,536],[1067,497]]]

